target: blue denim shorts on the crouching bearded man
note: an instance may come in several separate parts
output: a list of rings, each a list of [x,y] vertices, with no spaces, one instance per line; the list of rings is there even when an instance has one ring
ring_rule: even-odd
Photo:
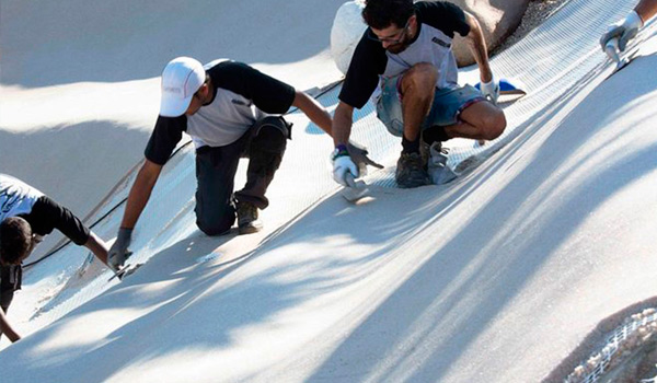
[[[396,137],[402,137],[404,132],[402,95],[400,92],[403,74],[382,80],[381,95],[377,102],[377,116],[385,125],[388,131]],[[457,124],[463,109],[485,100],[482,93],[471,85],[457,89],[436,89],[431,111],[423,121],[422,130],[433,126]]]

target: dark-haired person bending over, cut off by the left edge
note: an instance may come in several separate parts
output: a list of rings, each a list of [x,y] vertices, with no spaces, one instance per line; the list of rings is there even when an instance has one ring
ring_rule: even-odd
[[[105,242],[70,210],[34,187],[0,173],[0,334],[11,341],[21,338],[5,316],[14,291],[21,289],[21,263],[55,229],[107,264]]]

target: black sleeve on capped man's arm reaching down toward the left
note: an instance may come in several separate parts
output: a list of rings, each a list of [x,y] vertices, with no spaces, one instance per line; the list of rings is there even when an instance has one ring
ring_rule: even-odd
[[[159,116],[143,155],[158,165],[164,165],[171,153],[173,153],[175,146],[183,138],[183,131],[185,130],[187,130],[187,116]]]

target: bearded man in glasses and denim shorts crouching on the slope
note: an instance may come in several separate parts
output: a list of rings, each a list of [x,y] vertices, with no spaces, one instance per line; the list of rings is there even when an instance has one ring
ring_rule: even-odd
[[[451,138],[492,140],[502,135],[506,119],[495,105],[499,86],[472,14],[443,1],[368,0],[362,18],[369,27],[356,47],[333,117],[337,183],[346,185],[347,173],[358,176],[346,142],[354,108],[361,108],[372,93],[379,119],[402,138],[395,171],[400,187],[431,182],[420,148],[430,147],[431,155],[445,155],[441,142]],[[479,65],[481,92],[458,84],[451,49],[454,33],[465,36]]]

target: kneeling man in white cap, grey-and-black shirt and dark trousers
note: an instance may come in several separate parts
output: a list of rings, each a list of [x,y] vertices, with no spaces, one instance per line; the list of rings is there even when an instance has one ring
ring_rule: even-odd
[[[245,63],[217,60],[204,67],[189,57],[170,61],[162,72],[160,116],[110,263],[118,267],[129,256],[132,229],[183,131],[196,146],[198,228],[208,235],[228,233],[237,213],[240,234],[260,231],[258,209],[269,204],[265,193],[290,138],[291,125],[281,114],[291,106],[331,135],[331,115],[315,100]],[[349,150],[359,165],[377,165],[366,150],[353,144]],[[233,193],[241,156],[250,159],[246,185]]]

